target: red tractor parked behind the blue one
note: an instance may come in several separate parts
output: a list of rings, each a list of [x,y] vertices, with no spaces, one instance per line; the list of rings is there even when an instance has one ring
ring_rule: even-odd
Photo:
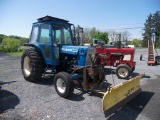
[[[104,42],[102,43],[104,44]],[[95,46],[96,52],[106,55],[105,66],[116,68],[116,75],[120,79],[127,79],[135,70],[134,48],[122,47],[121,41],[117,41],[116,47],[105,47],[105,45]],[[102,62],[99,59],[99,62]]]

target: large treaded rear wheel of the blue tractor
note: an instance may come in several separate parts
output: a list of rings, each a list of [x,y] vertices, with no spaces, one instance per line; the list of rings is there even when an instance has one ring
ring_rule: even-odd
[[[21,69],[25,80],[30,82],[40,80],[45,64],[39,52],[34,48],[26,49],[21,57]]]

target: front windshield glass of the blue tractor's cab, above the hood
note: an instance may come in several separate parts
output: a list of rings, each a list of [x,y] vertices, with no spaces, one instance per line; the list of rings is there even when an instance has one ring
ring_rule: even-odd
[[[52,37],[54,44],[72,45],[73,37],[70,25],[53,24]]]

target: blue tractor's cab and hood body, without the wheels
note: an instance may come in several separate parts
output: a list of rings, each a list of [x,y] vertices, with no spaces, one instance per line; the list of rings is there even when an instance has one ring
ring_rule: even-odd
[[[25,45],[38,50],[46,69],[72,72],[75,65],[91,64],[88,51],[94,54],[95,49],[89,50],[83,44],[83,28],[75,32],[75,26],[69,21],[45,16],[33,23],[29,43]]]

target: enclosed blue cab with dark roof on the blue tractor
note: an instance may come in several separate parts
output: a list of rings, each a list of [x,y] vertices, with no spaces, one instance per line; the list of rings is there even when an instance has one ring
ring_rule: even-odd
[[[76,44],[75,27],[64,19],[41,17],[33,23],[29,44],[39,49],[47,64],[58,65],[62,46]]]

